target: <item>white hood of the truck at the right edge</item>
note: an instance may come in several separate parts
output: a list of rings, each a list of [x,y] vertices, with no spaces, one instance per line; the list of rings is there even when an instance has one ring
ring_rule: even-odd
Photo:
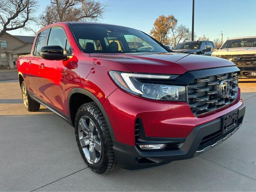
[[[240,55],[240,54],[256,54],[256,47],[236,47],[219,49],[212,52],[212,55]]]

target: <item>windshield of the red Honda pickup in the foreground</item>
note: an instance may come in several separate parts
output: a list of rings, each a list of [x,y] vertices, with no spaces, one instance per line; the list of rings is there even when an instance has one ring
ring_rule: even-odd
[[[150,36],[131,28],[101,24],[72,24],[72,31],[86,53],[168,52]]]

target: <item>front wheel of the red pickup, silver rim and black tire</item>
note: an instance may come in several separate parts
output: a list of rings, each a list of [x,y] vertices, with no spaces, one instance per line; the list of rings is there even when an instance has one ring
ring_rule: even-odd
[[[90,169],[103,174],[118,167],[106,120],[95,102],[78,109],[75,134],[80,154]]]

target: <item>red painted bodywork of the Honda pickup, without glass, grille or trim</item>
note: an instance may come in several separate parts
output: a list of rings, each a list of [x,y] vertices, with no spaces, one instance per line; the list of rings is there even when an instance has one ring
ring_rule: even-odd
[[[67,23],[52,24],[42,30],[53,26],[65,30],[74,56],[65,61],[50,61],[33,56],[32,51],[30,56],[18,59],[18,72],[31,94],[65,116],[70,115],[70,91],[73,88],[88,90],[104,107],[119,142],[135,145],[136,118],[142,118],[147,136],[185,138],[195,126],[219,118],[243,104],[239,92],[237,100],[226,108],[195,117],[186,102],[156,101],[132,95],[120,90],[108,74],[110,70],[184,74],[189,70],[234,66],[228,60],[178,53],[86,54],[78,48]]]

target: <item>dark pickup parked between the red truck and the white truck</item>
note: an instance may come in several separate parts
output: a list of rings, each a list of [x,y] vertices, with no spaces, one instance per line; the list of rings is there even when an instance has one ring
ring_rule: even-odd
[[[212,41],[188,41],[179,43],[172,51],[211,56],[214,48],[215,45]]]

